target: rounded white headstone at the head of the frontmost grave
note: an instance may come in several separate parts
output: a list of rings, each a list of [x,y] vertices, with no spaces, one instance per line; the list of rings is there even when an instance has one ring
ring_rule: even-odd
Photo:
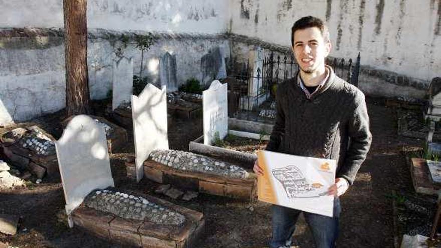
[[[70,213],[94,189],[113,187],[107,153],[106,133],[86,115],[75,116],[55,142],[58,166],[66,199],[69,226]]]

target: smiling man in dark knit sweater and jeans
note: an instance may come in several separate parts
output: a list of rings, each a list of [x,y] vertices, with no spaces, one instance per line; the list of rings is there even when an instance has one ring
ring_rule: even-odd
[[[276,122],[266,150],[337,161],[335,184],[328,189],[335,196],[333,217],[303,213],[316,247],[335,247],[338,197],[354,182],[372,140],[366,103],[360,90],[325,65],[331,43],[322,20],[308,16],[296,21],[291,44],[300,70],[294,80],[278,86]],[[253,169],[263,175],[257,161]],[[278,205],[271,211],[270,247],[289,247],[301,211]]]

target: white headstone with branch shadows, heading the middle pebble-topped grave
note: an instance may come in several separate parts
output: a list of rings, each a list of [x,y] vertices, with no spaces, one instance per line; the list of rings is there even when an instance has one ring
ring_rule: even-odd
[[[166,87],[147,84],[139,96],[132,95],[136,181],[144,177],[144,161],[155,149],[168,149]]]

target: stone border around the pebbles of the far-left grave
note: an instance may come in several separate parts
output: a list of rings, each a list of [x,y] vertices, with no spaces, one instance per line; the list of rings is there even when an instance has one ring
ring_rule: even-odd
[[[26,129],[35,126],[36,130],[47,136],[55,144],[56,139],[44,129],[40,128],[38,125],[38,123],[33,122],[18,123],[6,128],[5,132],[2,133],[2,135],[11,130],[14,130],[15,128]],[[5,154],[5,156],[12,162],[12,165],[21,169],[29,170],[32,174],[35,174],[37,178],[43,178],[47,176],[57,180],[60,179],[57,154],[49,156],[33,154],[28,149],[24,149],[23,147],[18,146],[16,142],[7,143],[0,141],[0,146],[3,148],[3,153]],[[23,156],[21,154],[27,154],[27,156]]]

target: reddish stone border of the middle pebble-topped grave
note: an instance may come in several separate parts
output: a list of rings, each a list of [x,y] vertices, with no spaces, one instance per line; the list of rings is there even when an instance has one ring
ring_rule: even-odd
[[[135,179],[135,164],[126,162],[127,176]],[[182,172],[161,163],[146,160],[144,176],[161,184],[172,184],[200,193],[225,196],[235,199],[255,201],[257,199],[257,180],[254,173],[245,179],[227,178],[200,172]]]

